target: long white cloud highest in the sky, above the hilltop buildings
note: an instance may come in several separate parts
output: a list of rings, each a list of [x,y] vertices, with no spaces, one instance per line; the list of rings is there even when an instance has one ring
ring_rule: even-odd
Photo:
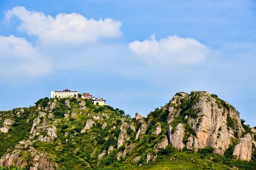
[[[21,21],[21,31],[37,36],[44,44],[82,44],[101,37],[113,38],[122,35],[119,30],[122,23],[110,18],[87,19],[77,13],[59,13],[53,18],[41,12],[28,11],[23,6],[7,11],[5,20],[9,22],[13,16],[17,16]]]

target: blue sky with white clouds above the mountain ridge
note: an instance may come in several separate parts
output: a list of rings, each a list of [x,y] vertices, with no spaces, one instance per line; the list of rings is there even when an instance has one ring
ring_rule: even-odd
[[[0,110],[77,90],[146,116],[208,91],[256,125],[256,1],[0,0]]]

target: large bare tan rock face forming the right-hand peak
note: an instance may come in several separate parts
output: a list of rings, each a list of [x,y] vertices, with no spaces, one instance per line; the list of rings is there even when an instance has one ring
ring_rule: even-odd
[[[215,149],[216,154],[224,154],[230,141],[239,138],[244,131],[234,107],[208,92],[180,92],[173,97],[167,107],[169,124],[182,116],[195,132],[195,138],[188,140],[187,147],[190,149],[191,146],[196,150],[210,146]],[[179,140],[176,139],[177,136],[173,137],[170,133],[171,128],[169,126],[169,138],[174,139],[175,148],[180,149],[183,146],[180,142],[181,135],[178,135]]]

